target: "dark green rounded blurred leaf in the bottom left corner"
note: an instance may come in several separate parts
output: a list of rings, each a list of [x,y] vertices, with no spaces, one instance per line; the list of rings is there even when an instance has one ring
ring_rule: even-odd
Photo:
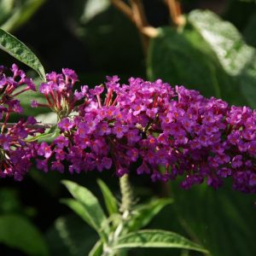
[[[49,255],[48,247],[39,230],[19,215],[0,216],[0,243],[19,249],[26,255]]]

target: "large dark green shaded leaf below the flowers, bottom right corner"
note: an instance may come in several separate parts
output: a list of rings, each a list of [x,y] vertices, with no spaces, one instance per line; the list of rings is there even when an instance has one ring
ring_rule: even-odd
[[[180,222],[189,236],[201,241],[212,256],[254,255],[255,195],[233,191],[228,180],[218,190],[206,183],[183,190],[179,183],[170,183],[175,200],[172,222]],[[170,216],[165,221],[169,219]]]

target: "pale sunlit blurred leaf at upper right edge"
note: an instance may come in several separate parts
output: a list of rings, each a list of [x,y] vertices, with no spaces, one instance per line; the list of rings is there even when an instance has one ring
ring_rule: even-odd
[[[244,42],[235,26],[210,11],[194,10],[188,20],[211,47],[224,71],[238,81],[247,100],[244,104],[256,108],[256,49]]]

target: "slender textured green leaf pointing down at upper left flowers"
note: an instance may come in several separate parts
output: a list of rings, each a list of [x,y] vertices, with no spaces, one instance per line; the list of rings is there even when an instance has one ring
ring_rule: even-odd
[[[35,70],[41,79],[45,80],[44,67],[38,60],[38,57],[32,53],[31,49],[28,49],[25,44],[15,38],[9,32],[5,32],[0,28],[0,49],[3,49],[9,55],[12,55],[18,61],[25,63],[28,67]]]

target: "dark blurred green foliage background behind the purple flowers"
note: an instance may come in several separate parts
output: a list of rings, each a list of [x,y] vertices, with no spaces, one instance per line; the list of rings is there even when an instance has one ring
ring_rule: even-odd
[[[47,72],[73,68],[82,84],[101,84],[113,74],[123,82],[131,76],[160,78],[255,108],[256,1],[182,0],[180,17],[182,21],[185,17],[185,23],[178,25],[164,2],[143,1],[148,24],[157,29],[153,38],[145,39],[108,0],[0,0],[0,26],[28,45]],[[13,61],[1,52],[1,64]],[[20,98],[24,114],[38,116],[38,110],[30,108],[32,97],[40,95]],[[54,122],[47,112],[38,119]],[[67,195],[60,181],[72,179],[102,199],[97,177],[119,196],[118,179],[112,173],[71,176],[32,170],[21,183],[0,180],[0,255],[87,255],[96,234],[60,204]],[[139,201],[153,195],[174,199],[150,227],[187,236],[207,247],[212,256],[256,254],[255,196],[233,191],[230,183],[218,191],[204,185],[184,191],[178,181],[151,183],[149,177],[137,178],[132,170],[131,183]],[[131,253],[160,252],[138,249]],[[178,250],[161,253],[200,255]]]

